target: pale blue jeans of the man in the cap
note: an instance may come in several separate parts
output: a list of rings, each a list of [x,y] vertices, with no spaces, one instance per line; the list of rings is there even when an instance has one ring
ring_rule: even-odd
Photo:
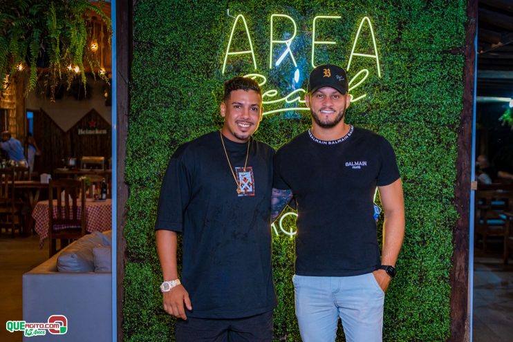
[[[342,319],[347,342],[381,342],[384,292],[372,273],[292,278],[303,342],[335,341]]]

